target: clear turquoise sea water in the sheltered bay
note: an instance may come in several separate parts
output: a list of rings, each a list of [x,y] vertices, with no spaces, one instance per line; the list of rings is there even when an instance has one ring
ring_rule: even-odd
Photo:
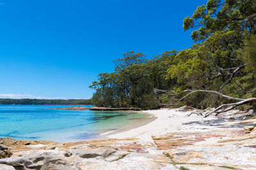
[[[145,113],[129,116],[127,111],[49,109],[64,107],[69,106],[0,105],[0,138],[81,141],[148,118]]]

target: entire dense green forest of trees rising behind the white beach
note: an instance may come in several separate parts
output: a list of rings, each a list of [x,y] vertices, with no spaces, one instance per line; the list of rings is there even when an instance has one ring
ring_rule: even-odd
[[[93,81],[92,101],[111,107],[207,108],[255,97],[256,0],[209,0],[183,22],[184,31],[193,30],[193,46],[152,59],[124,53],[114,61],[115,72]]]

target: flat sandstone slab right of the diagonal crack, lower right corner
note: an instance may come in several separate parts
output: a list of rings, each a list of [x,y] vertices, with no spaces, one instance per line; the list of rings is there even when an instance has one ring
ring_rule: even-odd
[[[256,135],[251,132],[255,127],[244,127],[244,130],[250,131],[244,134],[243,124],[250,122],[233,123],[215,127],[209,124],[207,127],[202,122],[191,122],[188,124],[189,130],[180,129],[179,132],[152,138],[177,167],[191,170],[256,169]],[[200,126],[202,128],[199,129]]]

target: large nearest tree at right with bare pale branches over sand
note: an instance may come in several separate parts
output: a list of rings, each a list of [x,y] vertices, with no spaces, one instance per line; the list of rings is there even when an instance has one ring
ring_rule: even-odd
[[[238,103],[222,104],[205,113],[206,117],[256,101],[256,90],[247,90],[256,86],[253,72],[256,57],[255,4],[255,0],[209,0],[206,5],[199,6],[191,17],[184,18],[184,30],[195,29],[191,37],[199,43],[179,52],[177,63],[168,69],[168,76],[184,83],[182,90],[190,89],[184,90],[189,94],[174,105],[198,92],[227,96],[221,91],[237,96],[236,99],[231,98]],[[229,96],[226,98],[231,99]]]

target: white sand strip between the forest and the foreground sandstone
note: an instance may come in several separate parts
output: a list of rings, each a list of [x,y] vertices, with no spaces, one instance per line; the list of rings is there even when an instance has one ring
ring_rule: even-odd
[[[108,138],[138,138],[145,141],[152,141],[153,136],[159,136],[173,132],[189,131],[188,125],[192,124],[193,122],[198,124],[194,127],[196,131],[201,132],[204,131],[204,129],[214,129],[214,125],[210,125],[209,127],[209,125],[204,125],[204,123],[201,122],[209,122],[209,124],[210,122],[214,122],[214,124],[219,125],[222,124],[222,121],[225,120],[229,124],[232,124],[230,117],[238,117],[239,114],[237,114],[237,112],[241,112],[240,115],[246,114],[239,110],[233,110],[229,111],[227,115],[223,116],[223,118],[220,119],[214,116],[203,118],[198,115],[191,115],[190,117],[187,117],[188,113],[190,113],[191,110],[181,108],[164,108],[161,110],[146,110],[143,112],[153,115],[154,117],[156,117],[155,120],[140,127],[129,129],[128,131],[116,132],[115,134],[108,134]],[[236,121],[242,122],[243,120],[237,119]]]

